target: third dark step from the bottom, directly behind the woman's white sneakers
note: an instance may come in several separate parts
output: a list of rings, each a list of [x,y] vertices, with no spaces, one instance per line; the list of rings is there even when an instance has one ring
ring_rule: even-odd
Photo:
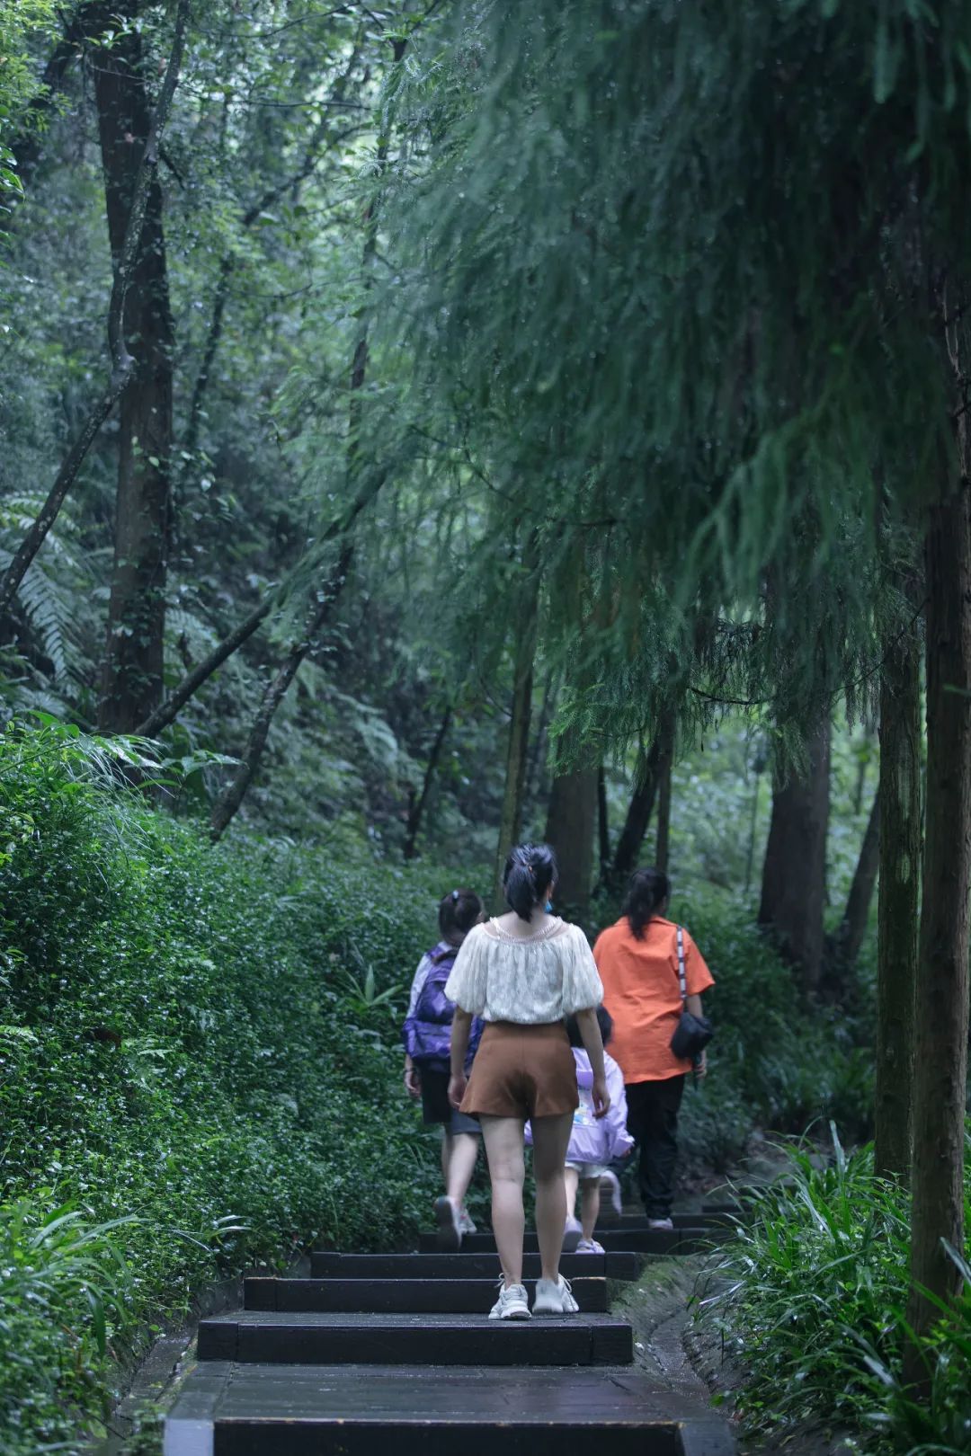
[[[572,1280],[584,1313],[607,1312],[607,1280]],[[527,1280],[530,1303],[534,1286]],[[262,1278],[243,1283],[246,1309],[317,1310],[386,1315],[488,1315],[496,1299],[495,1278]]]

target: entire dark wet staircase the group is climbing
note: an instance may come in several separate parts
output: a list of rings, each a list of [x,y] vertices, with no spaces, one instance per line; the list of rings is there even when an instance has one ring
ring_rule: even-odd
[[[165,1456],[571,1456],[601,1440],[610,1456],[731,1456],[718,1415],[635,1367],[607,1290],[648,1255],[710,1242],[718,1222],[598,1232],[604,1254],[563,1257],[579,1303],[568,1318],[488,1319],[488,1233],[460,1254],[422,1235],[415,1254],[320,1252],[310,1278],[250,1277],[242,1310],[199,1325]],[[527,1252],[530,1302],[537,1275]]]

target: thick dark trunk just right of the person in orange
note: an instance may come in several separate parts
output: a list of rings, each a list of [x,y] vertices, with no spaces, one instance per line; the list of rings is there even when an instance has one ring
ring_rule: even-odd
[[[814,994],[823,970],[830,818],[828,719],[815,729],[808,750],[805,778],[790,775],[773,789],[758,925],[772,932],[782,955],[799,968],[802,989]]]

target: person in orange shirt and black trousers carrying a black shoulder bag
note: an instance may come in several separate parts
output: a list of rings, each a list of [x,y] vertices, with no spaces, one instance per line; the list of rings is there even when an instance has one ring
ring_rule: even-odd
[[[678,1059],[671,1037],[683,1010],[678,981],[677,925],[667,919],[670,884],[659,869],[630,877],[623,914],[597,936],[594,960],[604,984],[604,1006],[613,1016],[610,1051],[623,1072],[627,1131],[641,1149],[638,1179],[652,1229],[670,1229],[677,1162],[677,1117],[684,1080],[700,1061]],[[702,992],[712,973],[687,933],[681,932],[687,1009],[702,1015]]]

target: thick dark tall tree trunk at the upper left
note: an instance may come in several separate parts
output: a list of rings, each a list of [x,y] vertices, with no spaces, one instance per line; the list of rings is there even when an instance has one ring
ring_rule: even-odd
[[[137,9],[130,3],[121,17],[134,20]],[[118,259],[151,121],[138,31],[132,26],[100,50],[93,68],[108,236]],[[163,689],[175,333],[157,175],[122,329],[135,367],[121,396],[115,563],[98,708],[106,732],[132,732],[157,708]]]

